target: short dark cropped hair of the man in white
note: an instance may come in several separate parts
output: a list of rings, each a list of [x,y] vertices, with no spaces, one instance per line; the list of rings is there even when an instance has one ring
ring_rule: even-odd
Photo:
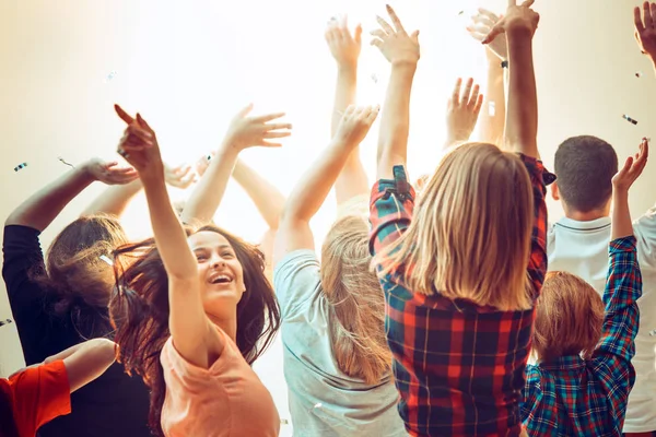
[[[612,194],[618,155],[612,145],[597,137],[572,137],[558,146],[554,169],[567,206],[590,212],[604,208]]]

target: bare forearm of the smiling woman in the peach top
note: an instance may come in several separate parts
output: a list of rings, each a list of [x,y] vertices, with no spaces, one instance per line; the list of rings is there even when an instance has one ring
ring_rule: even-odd
[[[172,279],[187,280],[198,274],[196,259],[187,245],[185,231],[173,211],[164,176],[141,176],[155,244],[166,273]]]

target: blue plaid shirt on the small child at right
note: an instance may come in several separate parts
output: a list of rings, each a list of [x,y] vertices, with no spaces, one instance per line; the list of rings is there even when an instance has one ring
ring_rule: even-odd
[[[593,358],[527,366],[522,418],[530,436],[621,436],[635,354],[642,276],[635,237],[610,244],[601,340]]]

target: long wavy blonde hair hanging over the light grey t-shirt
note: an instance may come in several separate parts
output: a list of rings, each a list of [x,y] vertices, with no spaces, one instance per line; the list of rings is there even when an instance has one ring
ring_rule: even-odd
[[[390,370],[391,352],[385,340],[385,297],[370,269],[368,231],[360,216],[338,220],[321,248],[320,275],[340,370],[376,383]]]

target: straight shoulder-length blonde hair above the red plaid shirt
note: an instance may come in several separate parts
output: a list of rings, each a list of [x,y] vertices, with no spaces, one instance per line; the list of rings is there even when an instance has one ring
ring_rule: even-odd
[[[405,285],[425,295],[530,309],[534,216],[522,160],[493,144],[462,144],[440,163],[406,233],[376,256],[378,274],[402,270]]]

